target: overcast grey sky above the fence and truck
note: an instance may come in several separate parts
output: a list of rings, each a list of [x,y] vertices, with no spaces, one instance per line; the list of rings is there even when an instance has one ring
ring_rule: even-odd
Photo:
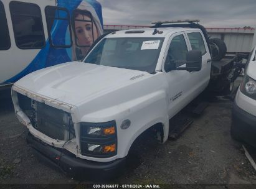
[[[256,28],[256,0],[98,0],[103,24],[151,25],[152,21],[200,19],[204,27]]]

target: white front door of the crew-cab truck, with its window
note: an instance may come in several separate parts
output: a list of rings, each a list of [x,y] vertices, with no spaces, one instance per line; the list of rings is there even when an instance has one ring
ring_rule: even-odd
[[[186,54],[189,50],[189,42],[184,32],[178,32],[171,35],[167,49],[166,59],[164,62],[164,72],[168,81],[168,115],[169,119],[184,108],[194,97],[196,93],[196,75],[186,70],[168,70],[168,67],[186,67]],[[180,63],[177,63],[177,60]],[[170,64],[170,65],[168,65]],[[168,67],[166,66],[168,65]]]

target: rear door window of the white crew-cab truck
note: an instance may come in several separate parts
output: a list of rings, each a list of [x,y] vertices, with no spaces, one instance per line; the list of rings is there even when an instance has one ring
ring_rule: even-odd
[[[204,46],[204,40],[199,32],[193,32],[187,34],[192,47],[192,50],[201,50],[202,55],[206,53],[206,47]]]

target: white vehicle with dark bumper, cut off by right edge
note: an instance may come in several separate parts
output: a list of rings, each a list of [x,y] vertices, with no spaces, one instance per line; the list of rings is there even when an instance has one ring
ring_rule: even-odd
[[[233,104],[231,135],[256,147],[256,47],[245,67],[242,81]]]

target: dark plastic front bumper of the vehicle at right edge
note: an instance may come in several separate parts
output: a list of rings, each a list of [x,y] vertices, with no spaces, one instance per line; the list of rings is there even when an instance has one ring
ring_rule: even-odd
[[[232,110],[232,132],[239,140],[256,147],[256,116],[239,108],[235,102]]]

